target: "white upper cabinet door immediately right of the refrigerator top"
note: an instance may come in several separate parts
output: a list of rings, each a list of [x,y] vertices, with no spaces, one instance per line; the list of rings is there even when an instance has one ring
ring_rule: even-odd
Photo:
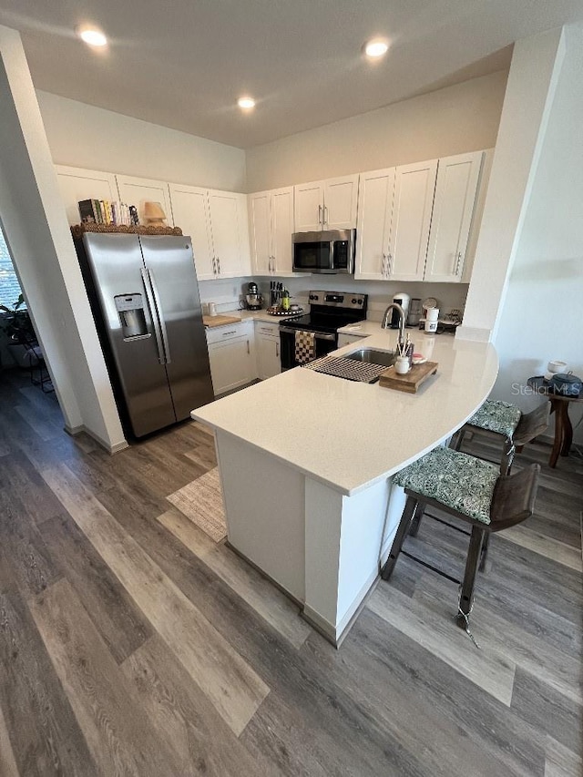
[[[174,223],[192,240],[194,264],[199,281],[216,277],[213,265],[207,189],[170,184]]]

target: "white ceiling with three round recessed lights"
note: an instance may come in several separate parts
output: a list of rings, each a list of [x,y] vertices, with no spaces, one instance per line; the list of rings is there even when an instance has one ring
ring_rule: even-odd
[[[581,0],[0,0],[37,88],[240,148],[505,68],[518,38],[581,20]],[[375,64],[372,36],[392,44]]]

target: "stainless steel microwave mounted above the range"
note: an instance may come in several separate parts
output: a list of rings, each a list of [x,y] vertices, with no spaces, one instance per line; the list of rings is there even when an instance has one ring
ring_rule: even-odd
[[[292,243],[294,272],[354,271],[356,230],[296,232]]]

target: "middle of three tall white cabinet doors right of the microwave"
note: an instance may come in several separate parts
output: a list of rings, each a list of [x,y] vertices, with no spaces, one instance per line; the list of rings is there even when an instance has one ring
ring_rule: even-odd
[[[423,281],[437,159],[395,169],[389,278]]]

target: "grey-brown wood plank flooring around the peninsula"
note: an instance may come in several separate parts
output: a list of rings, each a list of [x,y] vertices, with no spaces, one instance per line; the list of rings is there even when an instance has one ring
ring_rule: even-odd
[[[335,650],[170,504],[216,466],[208,430],[108,456],[62,425],[0,373],[0,777],[583,774],[583,460],[517,456],[537,513],[492,537],[480,649],[401,557]],[[425,518],[405,547],[460,577],[466,542]]]

